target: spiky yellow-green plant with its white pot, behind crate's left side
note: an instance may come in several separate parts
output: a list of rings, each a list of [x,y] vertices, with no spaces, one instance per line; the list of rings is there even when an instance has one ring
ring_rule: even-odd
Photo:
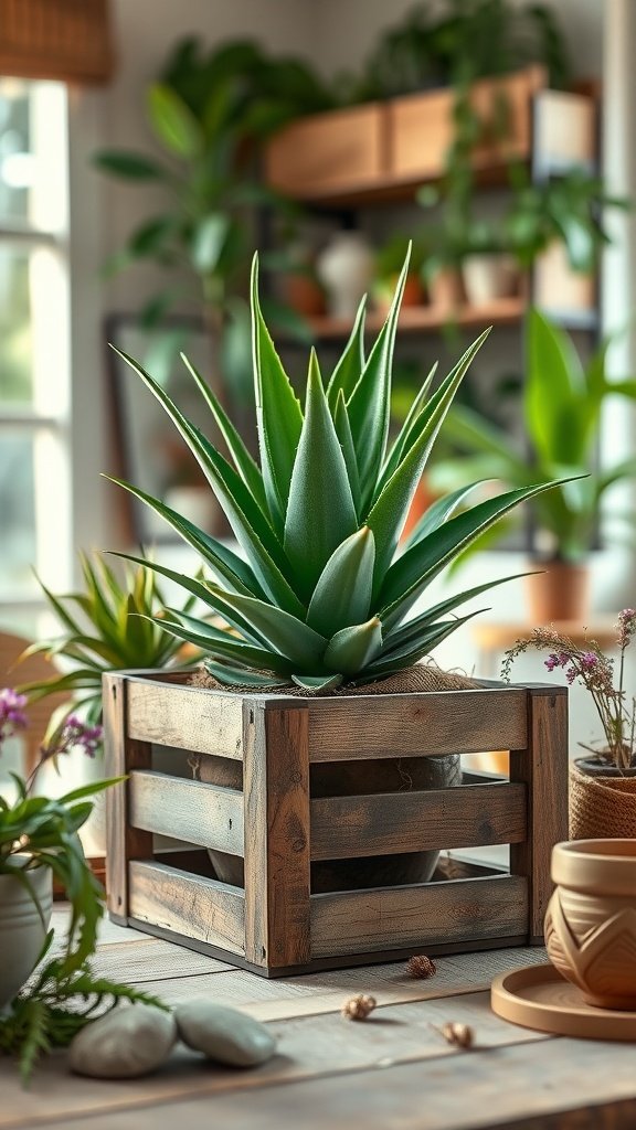
[[[102,676],[122,668],[187,668],[196,662],[197,649],[187,649],[165,631],[161,612],[165,594],[156,577],[143,568],[124,566],[121,577],[100,554],[94,560],[79,555],[84,589],[54,596],[41,583],[60,634],[52,640],[33,643],[24,658],[44,654],[66,670],[50,679],[19,685],[18,692],[28,702],[65,694],[67,702],[51,715],[43,744],[46,748],[63,746],[62,759],[46,758],[35,780],[36,789],[49,794],[63,793],[71,785],[100,781],[103,776],[101,744]],[[182,610],[192,610],[195,599]],[[155,620],[152,617],[156,617]],[[19,671],[19,667],[18,667]],[[100,740],[92,744],[86,757],[85,744],[74,742],[74,727],[95,729]],[[105,852],[104,807],[94,805],[91,818],[84,823],[83,840],[89,855]]]

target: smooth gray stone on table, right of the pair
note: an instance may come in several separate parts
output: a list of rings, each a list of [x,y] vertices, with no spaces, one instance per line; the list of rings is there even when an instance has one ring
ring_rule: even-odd
[[[234,1008],[195,1000],[179,1005],[174,1019],[183,1043],[218,1063],[256,1067],[276,1051],[270,1029]]]

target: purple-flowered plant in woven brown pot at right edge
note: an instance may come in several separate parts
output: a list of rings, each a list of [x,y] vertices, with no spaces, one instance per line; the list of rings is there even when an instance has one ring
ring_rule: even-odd
[[[636,697],[626,689],[626,651],[636,635],[636,609],[624,608],[616,625],[618,662],[595,640],[576,645],[552,627],[534,628],[506,652],[502,677],[528,650],[549,652],[545,667],[564,672],[592,696],[602,737],[583,746],[592,756],[570,765],[570,837],[636,838]]]

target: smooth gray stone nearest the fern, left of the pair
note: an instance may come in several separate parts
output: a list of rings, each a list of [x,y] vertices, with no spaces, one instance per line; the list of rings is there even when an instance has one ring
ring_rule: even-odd
[[[77,1075],[95,1079],[132,1079],[160,1067],[175,1040],[170,1012],[151,1005],[119,1005],[78,1032],[69,1064]]]

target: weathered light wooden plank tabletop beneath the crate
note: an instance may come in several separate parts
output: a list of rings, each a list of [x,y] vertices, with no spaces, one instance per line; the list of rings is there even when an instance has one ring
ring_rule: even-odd
[[[63,925],[63,910],[55,910]],[[96,967],[169,1002],[207,997],[272,1025],[278,1053],[238,1071],[175,1051],[138,1080],[71,1076],[50,1057],[31,1089],[0,1060],[0,1128],[91,1130],[619,1130],[636,1127],[633,1044],[542,1035],[490,1010],[491,979],[544,962],[541,949],[491,950],[437,960],[429,981],[403,963],[266,981],[132,930],[106,923]],[[364,1023],[343,1002],[370,992]],[[474,1048],[448,1045],[439,1028],[469,1024]]]

